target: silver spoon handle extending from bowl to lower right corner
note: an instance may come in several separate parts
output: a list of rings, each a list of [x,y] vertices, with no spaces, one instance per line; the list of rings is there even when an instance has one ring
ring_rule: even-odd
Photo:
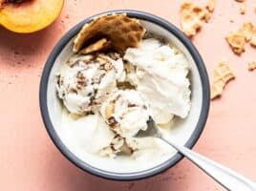
[[[172,145],[187,159],[200,167],[207,175],[222,184],[227,190],[231,191],[256,191],[256,183],[248,180],[235,171],[224,167],[211,159],[184,147],[177,145],[172,141],[162,138],[165,142]]]

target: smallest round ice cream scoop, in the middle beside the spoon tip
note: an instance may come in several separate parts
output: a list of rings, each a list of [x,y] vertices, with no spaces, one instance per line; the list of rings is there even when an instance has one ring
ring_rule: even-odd
[[[148,106],[134,90],[119,90],[101,107],[101,115],[120,137],[129,138],[147,129]]]

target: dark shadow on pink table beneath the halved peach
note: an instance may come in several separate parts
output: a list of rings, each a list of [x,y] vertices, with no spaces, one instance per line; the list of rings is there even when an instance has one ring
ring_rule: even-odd
[[[34,58],[46,59],[63,32],[65,26],[60,17],[46,29],[32,33],[11,32],[0,26],[0,53],[2,59],[10,60],[3,64],[17,62],[26,66]]]

